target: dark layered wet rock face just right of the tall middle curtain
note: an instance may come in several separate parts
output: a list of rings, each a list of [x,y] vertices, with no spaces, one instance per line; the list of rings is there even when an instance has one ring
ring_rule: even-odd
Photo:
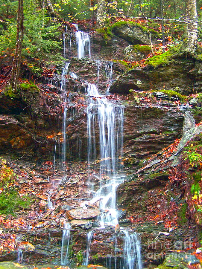
[[[130,162],[141,159],[168,146],[180,133],[183,114],[174,109],[158,107],[139,108],[126,106],[124,109],[124,157]]]

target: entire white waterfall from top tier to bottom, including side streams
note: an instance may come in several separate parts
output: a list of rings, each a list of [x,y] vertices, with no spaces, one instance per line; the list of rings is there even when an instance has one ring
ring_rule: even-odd
[[[89,33],[84,33],[78,30],[75,32],[77,40],[78,58],[91,56]],[[108,66],[107,66],[108,65]],[[107,68],[110,72],[107,73],[107,81],[111,82],[113,63],[107,63]],[[65,91],[66,82],[64,78],[67,74],[69,63],[63,69],[61,88]],[[100,65],[98,64],[98,80],[99,80]],[[70,73],[70,76],[77,77],[75,73]],[[100,162],[100,187],[94,192],[94,197],[90,201],[82,203],[84,208],[87,204],[94,204],[99,201],[99,207],[102,213],[98,216],[100,227],[90,230],[87,233],[86,252],[84,254],[83,264],[88,265],[91,241],[93,231],[97,229],[105,229],[108,226],[118,227],[118,211],[116,209],[116,189],[119,184],[124,182],[124,175],[119,174],[118,169],[121,166],[122,146],[123,146],[123,124],[124,124],[124,106],[116,103],[111,103],[106,96],[100,95],[98,88],[94,84],[88,83],[87,94],[89,95],[90,103],[87,108],[87,132],[88,132],[88,162],[94,161],[99,156]],[[65,96],[63,106],[63,161],[66,160],[66,102]],[[99,137],[99,152],[97,149]],[[103,179],[104,177],[104,179]],[[90,186],[93,189],[93,186]],[[104,213],[106,212],[106,213]],[[63,230],[61,264],[67,264],[68,247],[70,240],[70,225],[66,223]],[[123,235],[123,258],[119,268],[124,269],[141,269],[141,244],[137,234],[128,228],[120,227],[120,233]],[[116,236],[115,236],[116,246]],[[115,259],[115,269],[118,267],[116,262],[116,250],[113,257]],[[111,264],[110,257],[110,264]],[[111,265],[110,265],[111,266]]]

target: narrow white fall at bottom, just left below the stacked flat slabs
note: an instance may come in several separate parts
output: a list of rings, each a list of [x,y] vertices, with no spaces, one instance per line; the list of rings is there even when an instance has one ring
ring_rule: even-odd
[[[63,228],[63,239],[62,239],[62,248],[61,248],[61,265],[67,264],[70,229],[71,229],[71,226],[69,222],[65,222],[64,228]]]

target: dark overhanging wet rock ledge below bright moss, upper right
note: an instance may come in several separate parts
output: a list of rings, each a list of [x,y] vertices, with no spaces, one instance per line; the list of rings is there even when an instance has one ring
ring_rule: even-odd
[[[121,75],[110,87],[111,93],[128,94],[133,90],[174,90],[183,95],[188,95],[202,89],[201,76],[198,72],[191,74],[192,69],[197,69],[197,63],[192,59],[177,58],[165,66],[158,68],[145,67],[130,70]],[[197,69],[198,70],[198,69]]]

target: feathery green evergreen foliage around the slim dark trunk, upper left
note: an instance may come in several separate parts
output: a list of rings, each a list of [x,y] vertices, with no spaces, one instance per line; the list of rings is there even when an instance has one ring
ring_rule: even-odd
[[[24,5],[24,38],[22,48],[22,63],[33,74],[42,72],[42,65],[53,66],[63,63],[60,55],[60,32],[42,9],[36,9],[36,4],[26,0]],[[12,56],[16,44],[16,20],[6,24],[0,36],[0,55],[3,58]]]

